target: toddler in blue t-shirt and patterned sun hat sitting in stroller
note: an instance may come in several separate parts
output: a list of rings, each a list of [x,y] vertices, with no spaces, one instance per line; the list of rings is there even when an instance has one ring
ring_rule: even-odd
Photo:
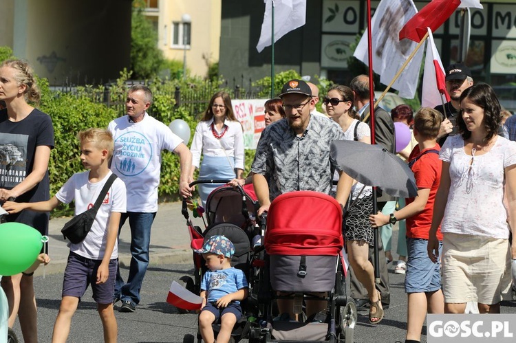
[[[220,318],[218,342],[229,342],[233,327],[242,317],[240,301],[248,296],[247,280],[244,272],[231,267],[230,261],[235,254],[233,243],[225,236],[211,236],[202,249],[208,271],[201,283],[203,298],[199,326],[204,342],[214,342],[215,335],[211,324]]]

